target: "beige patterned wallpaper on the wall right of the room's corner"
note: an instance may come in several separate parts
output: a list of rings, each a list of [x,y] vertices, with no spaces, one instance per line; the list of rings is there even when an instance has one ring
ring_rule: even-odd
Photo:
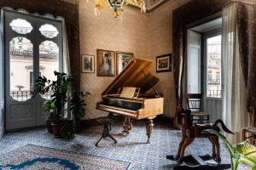
[[[189,0],[172,0],[149,14],[148,17],[148,59],[154,60],[156,56],[172,54],[172,10],[178,8]],[[173,60],[172,60],[173,61]],[[176,111],[176,92],[173,72],[153,73],[160,78],[156,87],[164,94],[164,115],[173,117]]]

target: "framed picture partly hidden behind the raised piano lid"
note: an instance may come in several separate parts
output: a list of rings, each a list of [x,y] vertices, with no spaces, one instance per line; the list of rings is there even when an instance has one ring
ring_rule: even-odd
[[[117,55],[117,74],[119,75],[121,71],[125,69],[125,67],[129,64],[131,59],[133,58],[133,53],[125,53],[125,52],[116,52]]]

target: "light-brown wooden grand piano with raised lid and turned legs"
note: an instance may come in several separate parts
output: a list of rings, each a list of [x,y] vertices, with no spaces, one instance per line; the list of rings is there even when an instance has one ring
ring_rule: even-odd
[[[124,133],[131,132],[133,119],[146,119],[147,143],[154,127],[153,119],[163,114],[164,106],[164,99],[154,88],[159,79],[150,74],[152,64],[151,60],[132,59],[102,93],[102,101],[96,104],[97,110],[125,116]],[[137,95],[132,98],[120,97],[125,87],[137,88]],[[154,93],[148,94],[148,91]]]

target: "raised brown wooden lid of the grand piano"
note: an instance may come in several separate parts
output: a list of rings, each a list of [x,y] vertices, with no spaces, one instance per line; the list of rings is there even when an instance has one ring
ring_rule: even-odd
[[[141,93],[146,93],[159,81],[157,77],[150,74],[152,60],[131,59],[131,62],[125,67],[118,77],[105,89],[102,95],[117,94],[119,88],[134,87],[141,88]]]

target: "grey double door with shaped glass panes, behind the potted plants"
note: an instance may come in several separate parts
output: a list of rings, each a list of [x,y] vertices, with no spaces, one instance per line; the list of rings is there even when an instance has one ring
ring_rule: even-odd
[[[62,71],[62,22],[3,9],[6,130],[45,124],[49,94],[32,91],[38,76]]]

